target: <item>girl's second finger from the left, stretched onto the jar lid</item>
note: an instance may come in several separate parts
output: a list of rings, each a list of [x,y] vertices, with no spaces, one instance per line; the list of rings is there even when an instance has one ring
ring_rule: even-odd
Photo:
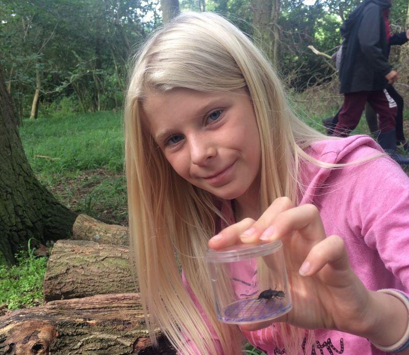
[[[255,243],[259,239],[267,241],[274,233],[272,222],[283,211],[291,209],[294,204],[288,197],[279,197],[264,211],[261,217],[246,231],[240,235],[243,243]],[[268,237],[268,239],[265,239]]]

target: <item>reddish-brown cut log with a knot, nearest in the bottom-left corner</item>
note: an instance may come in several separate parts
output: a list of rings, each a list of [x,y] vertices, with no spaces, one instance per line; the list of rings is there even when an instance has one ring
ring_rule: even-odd
[[[162,337],[153,348],[139,295],[48,302],[0,318],[0,354],[175,354]]]

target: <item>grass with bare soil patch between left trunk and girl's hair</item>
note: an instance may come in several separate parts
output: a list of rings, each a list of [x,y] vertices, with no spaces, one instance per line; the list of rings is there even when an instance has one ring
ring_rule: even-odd
[[[19,132],[37,178],[61,203],[107,223],[126,224],[122,114],[24,120]]]

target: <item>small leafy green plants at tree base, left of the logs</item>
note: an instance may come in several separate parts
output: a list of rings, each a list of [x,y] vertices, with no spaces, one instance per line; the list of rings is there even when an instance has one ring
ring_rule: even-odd
[[[36,306],[43,301],[42,283],[48,259],[34,255],[32,239],[28,241],[28,251],[15,254],[16,265],[0,263],[0,304],[6,303],[8,309]]]

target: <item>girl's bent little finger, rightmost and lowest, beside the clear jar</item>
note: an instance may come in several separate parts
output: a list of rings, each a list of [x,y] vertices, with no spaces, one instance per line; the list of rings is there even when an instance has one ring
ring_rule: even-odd
[[[313,246],[299,273],[302,276],[311,276],[327,264],[333,271],[345,271],[350,268],[345,242],[337,235],[331,235]]]

